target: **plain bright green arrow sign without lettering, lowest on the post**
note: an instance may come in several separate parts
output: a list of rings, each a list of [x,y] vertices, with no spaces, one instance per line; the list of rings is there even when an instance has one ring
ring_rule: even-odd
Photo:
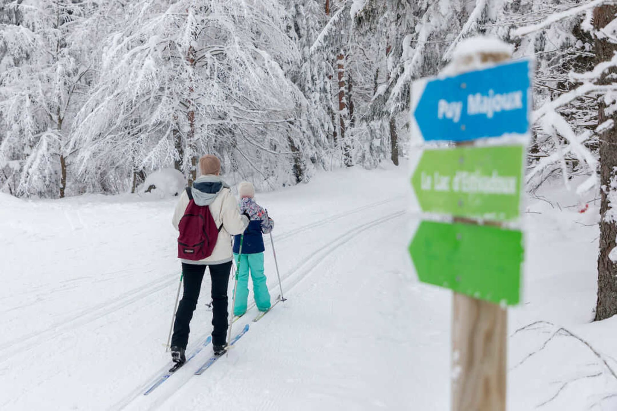
[[[422,282],[497,304],[519,302],[523,235],[518,230],[422,221],[409,253]]]

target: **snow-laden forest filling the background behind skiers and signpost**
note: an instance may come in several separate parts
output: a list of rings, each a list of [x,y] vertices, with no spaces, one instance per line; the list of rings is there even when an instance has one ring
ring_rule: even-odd
[[[484,34],[537,60],[530,189],[585,175],[586,190],[607,86],[590,81],[602,38],[584,3],[2,0],[0,189],[135,192],[162,168],[195,179],[204,152],[262,189],[397,165],[411,82]]]

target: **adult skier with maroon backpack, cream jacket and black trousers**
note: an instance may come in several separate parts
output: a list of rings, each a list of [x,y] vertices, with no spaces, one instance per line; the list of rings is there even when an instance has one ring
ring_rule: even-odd
[[[219,177],[220,160],[204,155],[199,159],[199,168],[202,175],[180,195],[172,219],[173,226],[180,231],[178,257],[184,281],[173,324],[172,360],[177,365],[186,362],[189,323],[197,306],[205,267],[210,267],[212,279],[212,346],[217,355],[225,351],[227,287],[233,260],[230,235],[241,234],[249,224],[247,216],[240,213],[230,186]]]

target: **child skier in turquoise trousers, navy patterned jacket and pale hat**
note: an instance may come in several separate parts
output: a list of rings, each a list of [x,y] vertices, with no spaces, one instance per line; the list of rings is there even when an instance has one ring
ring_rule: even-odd
[[[249,271],[253,280],[253,294],[255,304],[259,311],[270,309],[270,293],[266,285],[266,276],[263,274],[263,234],[268,234],[274,228],[274,221],[268,217],[268,213],[255,202],[255,187],[250,182],[243,181],[238,185],[240,195],[240,213],[246,215],[251,221],[244,231],[242,242],[242,254],[240,253],[240,237],[234,238],[233,255],[236,264],[240,259],[240,271],[238,273],[238,290],[236,291],[236,304],[234,315],[243,315],[246,312],[247,299],[249,298]]]

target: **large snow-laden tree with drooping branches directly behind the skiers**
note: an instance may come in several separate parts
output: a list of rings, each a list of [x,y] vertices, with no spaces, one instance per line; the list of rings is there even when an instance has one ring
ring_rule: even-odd
[[[143,0],[126,20],[75,119],[89,187],[170,163],[192,180],[202,153],[258,185],[301,179],[306,102],[286,75],[299,52],[280,4]]]

